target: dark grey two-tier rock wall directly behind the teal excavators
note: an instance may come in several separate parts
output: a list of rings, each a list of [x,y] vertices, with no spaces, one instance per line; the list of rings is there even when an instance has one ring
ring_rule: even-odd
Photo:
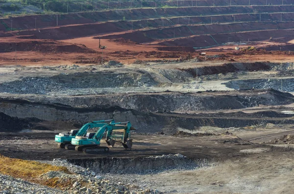
[[[274,120],[274,119],[242,119],[242,118],[214,118],[185,116],[183,114],[173,115],[167,113],[150,113],[165,109],[165,111],[189,111],[208,109],[234,109],[255,107],[258,105],[283,105],[293,103],[289,98],[291,94],[286,94],[274,90],[259,92],[257,95],[250,95],[248,91],[244,96],[212,96],[196,94],[121,94],[97,95],[91,97],[58,97],[56,99],[37,98],[38,102],[1,99],[0,112],[12,117],[38,118],[46,121],[72,121],[79,124],[101,120],[115,119],[115,121],[130,121],[138,132],[159,132],[174,133],[178,128],[196,130],[201,126],[213,126],[220,128],[245,127],[261,123],[291,123],[294,120]],[[229,94],[229,93],[228,93]],[[35,99],[36,100],[36,99]],[[156,102],[157,100],[157,102]],[[40,101],[44,101],[43,103]],[[113,107],[110,107],[111,104]],[[74,108],[72,106],[88,108]],[[121,107],[134,107],[121,108]],[[151,106],[150,106],[151,105]],[[98,107],[98,108],[97,108]],[[145,111],[145,112],[144,112]]]

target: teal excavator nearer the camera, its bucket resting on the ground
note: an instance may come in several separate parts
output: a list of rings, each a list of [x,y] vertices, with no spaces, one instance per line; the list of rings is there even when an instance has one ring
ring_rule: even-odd
[[[116,142],[121,142],[125,149],[132,148],[131,130],[135,130],[130,122],[109,123],[100,127],[96,133],[87,133],[84,136],[75,136],[72,139],[72,145],[75,146],[76,151],[83,151],[84,153],[98,153],[109,151],[108,147],[101,147],[100,140],[103,134],[106,133],[106,143],[109,147],[114,147]]]

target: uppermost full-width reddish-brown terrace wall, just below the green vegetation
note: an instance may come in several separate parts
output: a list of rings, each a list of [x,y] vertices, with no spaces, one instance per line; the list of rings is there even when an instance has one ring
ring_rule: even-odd
[[[287,1],[287,0],[285,0]],[[121,21],[125,18],[129,20],[155,19],[161,17],[177,16],[207,16],[240,13],[272,13],[272,12],[293,12],[293,5],[284,6],[240,6],[240,7],[179,7],[179,8],[157,8],[156,12],[152,8],[126,10],[110,10],[104,12],[83,12],[60,14],[58,24],[85,24],[92,22],[105,22],[109,20]],[[0,31],[10,29],[11,19],[0,19]],[[55,15],[39,15],[38,28],[55,27]],[[18,30],[28,30],[35,28],[35,16],[13,17],[13,28]],[[57,28],[58,29],[58,28]],[[82,29],[82,28],[80,28]],[[53,33],[53,31],[51,32]]]

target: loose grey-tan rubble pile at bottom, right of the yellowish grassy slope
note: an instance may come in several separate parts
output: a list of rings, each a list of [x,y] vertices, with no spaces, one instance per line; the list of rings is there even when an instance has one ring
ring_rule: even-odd
[[[177,157],[177,156],[176,156]],[[181,155],[181,157],[184,157]],[[46,163],[65,166],[73,174],[65,172],[47,172],[42,175],[44,179],[58,177],[64,181],[71,181],[72,186],[67,187],[66,191],[73,194],[162,194],[157,190],[143,189],[135,182],[130,182],[128,176],[124,180],[105,178],[104,175],[91,171],[89,168],[76,166],[63,159],[54,159]],[[124,183],[123,183],[124,182]]]

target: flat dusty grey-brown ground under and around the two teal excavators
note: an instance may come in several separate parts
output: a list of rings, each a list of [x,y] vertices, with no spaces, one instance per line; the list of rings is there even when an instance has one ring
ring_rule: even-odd
[[[207,159],[207,166],[192,171],[132,174],[131,179],[135,179],[143,187],[166,193],[289,193],[293,189],[292,185],[285,187],[285,184],[292,181],[293,148],[259,144],[294,132],[292,126],[280,126],[282,128],[278,130],[276,127],[229,130],[243,139],[238,139],[235,135],[182,138],[166,135],[133,135],[134,146],[131,151],[125,151],[118,145],[109,153],[99,156],[58,149],[52,138],[54,132],[1,133],[0,153],[32,160],[51,160],[56,157],[71,160],[97,157],[132,158],[181,153],[189,158]],[[120,176],[114,177],[119,180]],[[282,185],[279,182],[281,178],[284,180]]]

